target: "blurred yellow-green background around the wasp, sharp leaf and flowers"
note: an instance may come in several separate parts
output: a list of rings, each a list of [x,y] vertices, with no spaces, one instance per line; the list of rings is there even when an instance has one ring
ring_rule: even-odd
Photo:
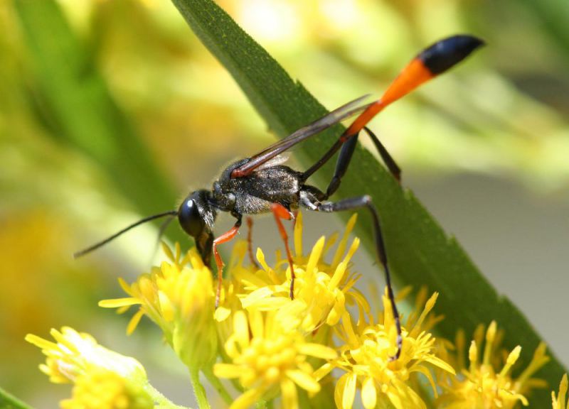
[[[218,3],[329,109],[378,96],[434,40],[464,32],[489,43],[372,128],[403,183],[569,364],[569,3]],[[128,317],[97,307],[121,296],[117,276],[149,266],[156,227],[79,261],[71,254],[173,208],[272,141],[169,1],[1,1],[0,385],[38,408],[68,396],[36,369],[41,354],[23,337],[70,325],[136,356],[184,403],[184,368],[159,334],[143,324],[124,337]],[[311,214],[307,224],[315,236],[334,229],[329,221]],[[279,245],[270,219],[254,234]]]

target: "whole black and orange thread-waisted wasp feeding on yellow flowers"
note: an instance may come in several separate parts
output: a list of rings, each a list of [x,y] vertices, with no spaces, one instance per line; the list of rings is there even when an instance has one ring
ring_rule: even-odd
[[[385,273],[388,298],[393,309],[393,317],[398,331],[398,351],[393,356],[393,359],[398,359],[402,345],[400,317],[395,305],[388,257],[385,251],[383,234],[381,233],[378,210],[373,205],[369,195],[364,194],[338,201],[330,201],[329,197],[334,195],[334,192],[341,184],[342,177],[349,168],[361,131],[364,131],[371,138],[390,173],[400,181],[400,168],[377,136],[368,129],[368,122],[385,107],[413,91],[420,84],[431,80],[464,60],[481,45],[484,45],[483,40],[468,35],[451,36],[430,45],[410,60],[398,77],[391,82],[380,99],[370,103],[363,103],[368,97],[366,95],[334,109],[329,114],[302,127],[286,138],[273,143],[256,155],[231,163],[223,170],[218,180],[213,182],[210,190],[201,189],[190,192],[181,202],[178,209],[145,217],[107,239],[87,249],[78,251],[74,256],[79,257],[90,253],[120,236],[125,231],[137,227],[139,224],[161,217],[169,217],[169,219],[177,217],[181,228],[195,240],[196,247],[204,263],[210,265],[212,254],[215,258],[218,269],[217,306],[220,298],[223,270],[223,260],[218,252],[218,246],[235,237],[241,227],[244,214],[272,212],[275,215],[280,235],[283,241],[285,241],[291,276],[289,296],[294,298],[294,268],[287,232],[281,219],[292,219],[294,217],[293,212],[299,209],[299,207],[314,212],[344,212],[366,209],[371,214],[376,253]],[[297,145],[297,143],[301,143],[307,138],[324,131],[324,129],[328,129],[353,116],[356,116],[356,119],[309,169],[299,171],[284,164],[286,158],[283,153],[285,151]],[[338,151],[339,156],[336,160],[334,175],[326,190],[320,190],[314,185],[309,185],[309,178]],[[213,227],[220,212],[230,213],[235,217],[235,224],[224,234],[216,237],[213,234]]]

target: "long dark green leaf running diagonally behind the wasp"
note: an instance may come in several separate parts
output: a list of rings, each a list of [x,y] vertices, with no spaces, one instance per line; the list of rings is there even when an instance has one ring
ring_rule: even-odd
[[[277,136],[285,137],[326,114],[326,109],[307,89],[294,82],[213,1],[173,2],[203,44],[233,75]],[[302,143],[298,151],[302,152],[304,163],[314,163],[341,131],[341,126],[335,126]],[[325,184],[331,178],[331,166],[317,176],[317,180]],[[496,293],[462,247],[442,230],[413,192],[402,189],[371,153],[358,148],[337,196],[353,197],[364,193],[373,197],[381,214],[390,266],[398,283],[411,284],[415,289],[427,285],[430,291],[440,292],[437,312],[445,315],[445,320],[437,326],[440,333],[454,339],[459,328],[472,334],[479,323],[487,325],[496,320],[506,332],[504,347],[513,349],[521,345],[522,360],[527,364],[541,339],[526,317],[507,298]],[[368,226],[365,222],[358,223],[358,235],[368,250],[373,251],[373,237]],[[555,356],[550,355],[552,361],[540,376],[554,388],[564,369]],[[551,407],[547,395],[547,391],[534,394],[532,407]]]

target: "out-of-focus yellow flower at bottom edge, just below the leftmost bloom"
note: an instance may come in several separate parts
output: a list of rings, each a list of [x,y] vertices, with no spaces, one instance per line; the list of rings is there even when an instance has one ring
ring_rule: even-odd
[[[73,397],[62,409],[151,409],[154,401],[144,387],[106,369],[93,368],[75,380]]]

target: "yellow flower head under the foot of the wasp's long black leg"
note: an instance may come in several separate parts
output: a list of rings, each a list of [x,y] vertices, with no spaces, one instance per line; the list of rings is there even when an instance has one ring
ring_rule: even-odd
[[[437,300],[437,293],[427,300],[424,310],[414,317],[410,329],[403,328],[403,348],[400,357],[393,360],[397,351],[397,329],[388,298],[383,296],[383,324],[360,322],[356,327],[346,313],[342,318],[339,337],[344,342],[339,358],[324,364],[317,377],[326,376],[332,369],[346,373],[336,383],[334,398],[338,408],[351,408],[356,390],[361,389],[361,400],[366,409],[426,408],[418,393],[410,386],[411,377],[422,373],[430,381],[435,396],[437,390],[430,368],[454,374],[452,366],[435,355],[435,338],[422,329],[427,314]]]

